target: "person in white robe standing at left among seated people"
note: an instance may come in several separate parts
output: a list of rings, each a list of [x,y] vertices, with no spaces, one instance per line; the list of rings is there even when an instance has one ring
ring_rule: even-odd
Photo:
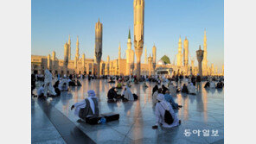
[[[44,97],[47,97],[48,91],[49,91],[50,95],[56,95],[56,93],[54,91],[54,87],[52,85],[52,80],[53,80],[52,79],[53,78],[52,73],[49,72],[48,69],[46,69],[44,71],[44,73],[45,73],[45,77],[44,77],[44,93],[43,93]]]

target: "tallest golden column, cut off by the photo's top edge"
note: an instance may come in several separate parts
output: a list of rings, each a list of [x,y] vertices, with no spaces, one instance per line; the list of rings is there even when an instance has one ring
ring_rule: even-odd
[[[133,1],[134,48],[137,59],[137,77],[140,78],[140,59],[144,47],[144,0]]]

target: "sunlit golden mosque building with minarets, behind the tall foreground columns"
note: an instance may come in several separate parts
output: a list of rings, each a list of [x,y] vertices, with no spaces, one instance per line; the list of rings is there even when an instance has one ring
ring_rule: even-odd
[[[70,37],[69,37],[70,40]],[[196,75],[198,73],[198,68],[195,66],[195,59],[190,58],[189,65],[189,41],[187,38],[184,40],[184,49],[182,52],[182,42],[181,38],[178,43],[178,54],[180,59],[177,63],[164,63],[163,60],[159,59],[157,61],[157,47],[152,47],[152,53],[150,56],[144,58],[144,63],[140,64],[140,73],[141,75],[154,75],[156,70],[159,68],[172,68],[173,74],[183,74],[183,75]],[[64,59],[56,58],[56,53],[53,51],[52,55],[48,56],[41,55],[32,55],[31,56],[31,71],[37,71],[43,73],[45,69],[51,70],[53,73],[60,74],[95,74],[98,75],[135,75],[137,71],[137,65],[135,64],[135,51],[131,49],[131,31],[129,29],[127,48],[125,50],[125,58],[121,57],[121,46],[118,45],[118,58],[110,59],[110,56],[107,56],[106,61],[100,59],[98,65],[95,56],[94,59],[86,58],[86,54],[83,53],[80,56],[80,43],[79,37],[76,41],[76,50],[74,59],[69,59],[69,44],[68,41],[64,44]],[[101,50],[102,51],[102,50]],[[144,55],[147,55],[145,52]],[[152,55],[152,57],[151,57]],[[164,55],[164,57],[167,57]],[[182,59],[183,58],[183,59]],[[169,58],[168,58],[169,59]],[[179,65],[177,65],[179,64]],[[203,61],[202,61],[203,66]],[[217,68],[214,67],[214,64],[207,67],[207,75],[223,75],[224,66],[222,66],[222,72],[218,73]],[[202,71],[204,72],[204,70]]]

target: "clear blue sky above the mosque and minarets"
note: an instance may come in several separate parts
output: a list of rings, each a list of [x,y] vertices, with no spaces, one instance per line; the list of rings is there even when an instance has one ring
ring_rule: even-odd
[[[86,58],[93,59],[98,18],[103,23],[103,60],[107,55],[110,59],[118,58],[119,42],[124,58],[129,28],[133,35],[133,0],[32,0],[31,9],[31,53],[35,55],[48,55],[54,50],[56,56],[63,59],[64,44],[70,34],[72,59],[77,35],[80,55],[86,53]],[[221,72],[224,63],[223,0],[145,0],[144,46],[148,56],[155,43],[157,60],[166,54],[172,63],[181,35],[182,41],[187,36],[189,53],[195,57],[195,51],[203,45],[204,28],[208,38],[208,62],[218,66]]]

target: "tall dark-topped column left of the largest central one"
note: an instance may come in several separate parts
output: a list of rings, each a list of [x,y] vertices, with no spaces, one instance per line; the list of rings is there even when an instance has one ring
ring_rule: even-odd
[[[97,76],[99,78],[99,68],[102,56],[102,23],[99,21],[95,24],[95,59],[98,64]]]

